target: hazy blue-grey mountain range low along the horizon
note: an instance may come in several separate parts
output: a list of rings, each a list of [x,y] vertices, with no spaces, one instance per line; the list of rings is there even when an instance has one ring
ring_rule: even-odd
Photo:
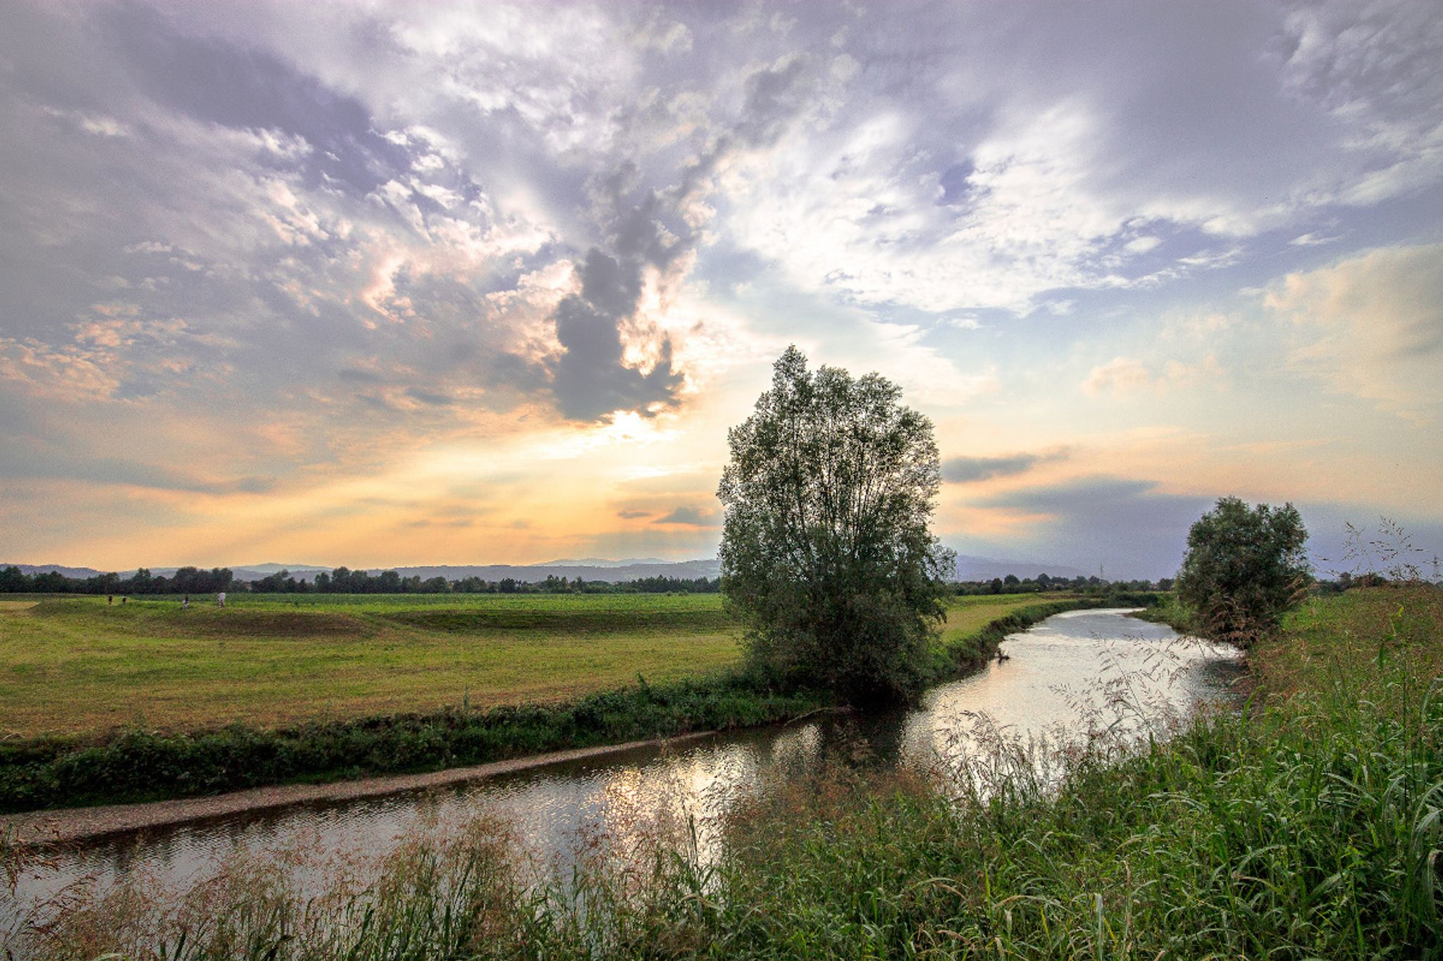
[[[7,566],[12,565],[0,563],[0,568]],[[94,578],[102,573],[94,568],[68,568],[59,563],[17,563],[13,566],[20,568],[25,573],[46,573],[49,571],[58,571],[66,578]],[[278,573],[280,571],[289,571],[291,576],[306,578],[310,581],[315,579],[317,573],[330,573],[332,568],[315,563],[251,563],[231,568],[237,581],[260,581],[261,578]],[[661,560],[659,558],[626,558],[622,560],[612,560],[608,558],[582,558],[576,560],[547,560],[545,563],[528,565],[431,565],[413,568],[368,568],[368,571],[371,573],[395,571],[403,578],[420,576],[423,581],[430,578],[446,578],[447,581],[460,581],[463,578],[504,581],[511,578],[514,581],[535,582],[545,581],[548,576],[556,576],[566,578],[567,581],[582,578],[583,581],[620,584],[625,581],[638,581],[641,578],[716,578],[722,573],[722,562],[716,558],[700,560]],[[156,576],[169,578],[175,572],[176,568],[150,568],[150,573]],[[120,572],[121,576],[130,576],[131,573],[134,573],[134,571]],[[974,558],[971,555],[957,556],[958,581],[991,581],[993,578],[1006,578],[1009,573],[1019,578],[1035,578],[1039,573],[1046,573],[1052,578],[1087,576],[1085,571],[1069,568],[1062,563],[999,560],[996,558]]]

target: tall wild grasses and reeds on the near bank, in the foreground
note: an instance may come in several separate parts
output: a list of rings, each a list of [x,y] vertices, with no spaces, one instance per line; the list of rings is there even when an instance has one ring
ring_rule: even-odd
[[[541,886],[478,821],[313,902],[241,863],[165,916],[117,892],[40,954],[1436,958],[1440,640],[1436,588],[1352,591],[1258,644],[1242,712],[1066,752],[1061,790],[1007,751],[983,781],[834,768],[720,862],[658,833]]]

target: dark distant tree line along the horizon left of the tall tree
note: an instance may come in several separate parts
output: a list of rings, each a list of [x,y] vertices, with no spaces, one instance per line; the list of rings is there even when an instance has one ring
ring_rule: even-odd
[[[153,576],[141,568],[128,578],[118,573],[101,573],[94,578],[66,578],[49,571],[25,573],[20,568],[0,569],[0,594],[215,594],[219,591],[253,594],[716,594],[722,589],[720,578],[639,578],[610,584],[608,581],[583,581],[548,573],[544,581],[528,582],[515,578],[485,581],[462,578],[449,581],[442,576],[421,579],[418,575],[403,578],[395,571],[369,573],[336,568],[330,573],[322,571],[313,581],[296,578],[290,571],[277,571],[258,581],[237,581],[228,568],[201,571],[180,568],[172,576]]]

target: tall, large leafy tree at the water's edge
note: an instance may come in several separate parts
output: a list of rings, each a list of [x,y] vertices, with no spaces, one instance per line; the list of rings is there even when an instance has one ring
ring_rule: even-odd
[[[876,373],[807,370],[794,346],[727,439],[722,589],[753,664],[854,702],[921,684],[952,555],[928,529],[932,422]]]

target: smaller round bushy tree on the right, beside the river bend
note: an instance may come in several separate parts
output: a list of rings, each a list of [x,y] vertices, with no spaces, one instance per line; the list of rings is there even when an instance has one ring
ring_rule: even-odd
[[[1177,598],[1206,637],[1251,645],[1307,591],[1307,530],[1293,504],[1222,497],[1188,532]]]

